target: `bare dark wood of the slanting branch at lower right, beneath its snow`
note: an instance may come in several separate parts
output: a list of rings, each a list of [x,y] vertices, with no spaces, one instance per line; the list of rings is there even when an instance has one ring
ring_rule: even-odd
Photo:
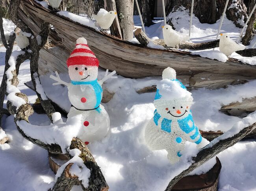
[[[211,141],[210,144],[208,144],[207,146],[202,148],[197,153],[197,156],[194,156],[194,157],[191,158],[191,160],[190,160],[191,165],[186,170],[182,171],[182,173],[175,176],[171,180],[171,182],[169,183],[169,185],[167,186],[165,191],[171,191],[174,184],[176,184],[176,182],[178,182],[178,180],[180,180],[182,177],[186,176],[188,173],[190,173],[191,171],[193,171],[197,167],[201,166],[206,161],[208,161],[210,158],[213,158],[214,156],[219,154],[221,151],[224,151],[228,147],[233,146],[239,140],[241,140],[246,135],[248,135],[250,132],[252,132],[254,129],[256,129],[256,123],[243,128],[241,131],[239,131],[238,133],[236,133],[232,137],[226,137],[225,138],[225,133],[224,133],[223,135],[219,136],[219,138],[216,138],[213,141]],[[223,139],[221,137],[223,137]]]

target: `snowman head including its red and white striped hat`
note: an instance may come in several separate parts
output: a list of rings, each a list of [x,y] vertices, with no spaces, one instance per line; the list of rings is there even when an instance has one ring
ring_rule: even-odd
[[[76,48],[67,59],[70,79],[77,82],[96,80],[98,65],[99,61],[87,45],[87,40],[78,38]]]

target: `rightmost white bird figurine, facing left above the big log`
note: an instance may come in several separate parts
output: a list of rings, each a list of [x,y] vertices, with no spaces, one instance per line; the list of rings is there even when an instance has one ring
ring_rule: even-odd
[[[226,56],[230,56],[232,53],[240,50],[244,50],[245,46],[238,44],[234,40],[232,40],[228,33],[221,34],[221,38],[219,39],[219,50]]]

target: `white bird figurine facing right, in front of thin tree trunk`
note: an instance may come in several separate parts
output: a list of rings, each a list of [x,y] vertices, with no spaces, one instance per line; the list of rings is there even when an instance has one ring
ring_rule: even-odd
[[[106,11],[105,9],[100,9],[97,15],[92,15],[92,17],[97,21],[98,25],[102,29],[109,29],[113,23],[115,16],[117,15],[114,11]]]

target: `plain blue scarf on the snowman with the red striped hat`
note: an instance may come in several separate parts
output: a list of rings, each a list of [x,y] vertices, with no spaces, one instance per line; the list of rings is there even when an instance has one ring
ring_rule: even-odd
[[[94,93],[95,93],[95,96],[96,96],[95,108],[100,106],[101,93],[103,92],[103,90],[102,90],[101,85],[98,83],[98,79],[93,80],[93,81],[88,81],[88,82],[76,82],[76,81],[71,80],[71,84],[73,84],[73,85],[91,85],[93,87],[93,90],[94,90]],[[98,107],[96,109],[96,111],[98,111],[98,113],[100,113],[100,111],[101,111],[100,107]]]

